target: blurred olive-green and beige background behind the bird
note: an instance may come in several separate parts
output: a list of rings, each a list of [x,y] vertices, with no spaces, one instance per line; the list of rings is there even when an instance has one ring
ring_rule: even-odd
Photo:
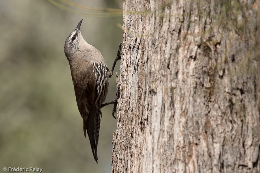
[[[118,9],[122,3],[74,1]],[[70,13],[45,0],[0,1],[1,172],[3,167],[38,167],[44,173],[111,172],[116,129],[113,105],[102,108],[96,164],[89,140],[84,138],[70,67],[63,52],[66,38],[81,19],[84,39],[101,52],[111,68],[122,42],[122,29],[117,26],[122,25],[122,16]],[[115,93],[114,75],[109,79],[106,101],[114,99]]]

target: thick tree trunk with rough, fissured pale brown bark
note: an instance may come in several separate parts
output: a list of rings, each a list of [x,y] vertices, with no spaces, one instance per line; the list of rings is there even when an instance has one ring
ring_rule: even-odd
[[[260,172],[258,3],[125,1],[112,172]]]

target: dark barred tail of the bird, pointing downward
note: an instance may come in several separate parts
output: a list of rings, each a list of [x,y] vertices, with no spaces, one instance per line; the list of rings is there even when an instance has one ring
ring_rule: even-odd
[[[98,163],[97,144],[99,142],[100,117],[102,117],[102,112],[100,109],[92,109],[89,116],[86,129],[94,159]]]

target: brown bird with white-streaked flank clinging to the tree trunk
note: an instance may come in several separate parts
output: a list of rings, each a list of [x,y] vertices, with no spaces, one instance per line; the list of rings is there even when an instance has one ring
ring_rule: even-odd
[[[101,107],[107,95],[108,78],[112,76],[112,71],[109,71],[99,50],[84,40],[80,29],[82,20],[68,35],[64,53],[70,65],[77,107],[83,119],[84,136],[86,138],[87,132],[94,159],[98,163]]]

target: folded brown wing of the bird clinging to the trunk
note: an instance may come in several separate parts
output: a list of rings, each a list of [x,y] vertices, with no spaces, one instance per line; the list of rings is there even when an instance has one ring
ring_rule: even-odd
[[[76,76],[77,86],[75,87],[75,95],[79,112],[83,119],[83,130],[86,138],[86,129],[89,121],[89,115],[91,106],[94,101],[96,78],[94,74],[94,66],[91,62],[84,63],[79,67],[78,74]],[[77,88],[77,89],[76,89]]]

